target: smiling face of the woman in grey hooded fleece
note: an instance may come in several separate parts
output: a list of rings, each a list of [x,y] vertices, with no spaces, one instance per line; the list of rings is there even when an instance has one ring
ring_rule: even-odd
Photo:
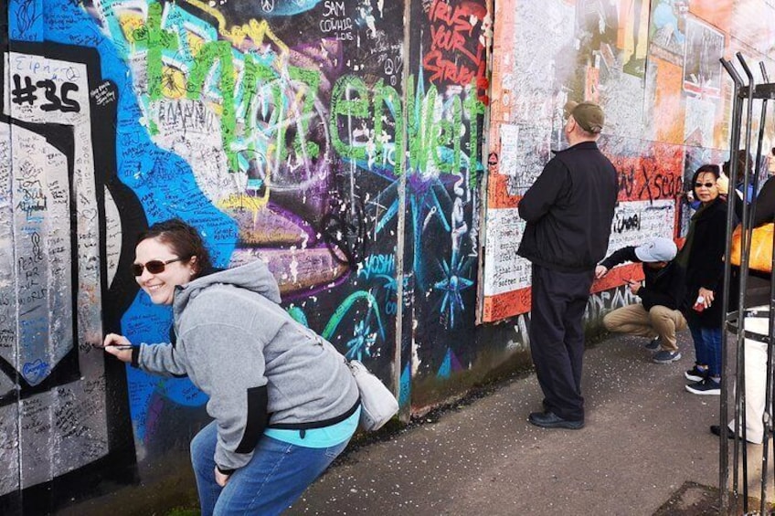
[[[134,263],[145,265],[149,261],[169,261],[179,257],[175,249],[156,238],[146,238],[135,248]],[[196,257],[173,261],[165,265],[164,270],[156,274],[143,267],[143,274],[134,279],[140,288],[151,298],[154,304],[171,305],[175,298],[175,286],[186,285],[196,273]]]

